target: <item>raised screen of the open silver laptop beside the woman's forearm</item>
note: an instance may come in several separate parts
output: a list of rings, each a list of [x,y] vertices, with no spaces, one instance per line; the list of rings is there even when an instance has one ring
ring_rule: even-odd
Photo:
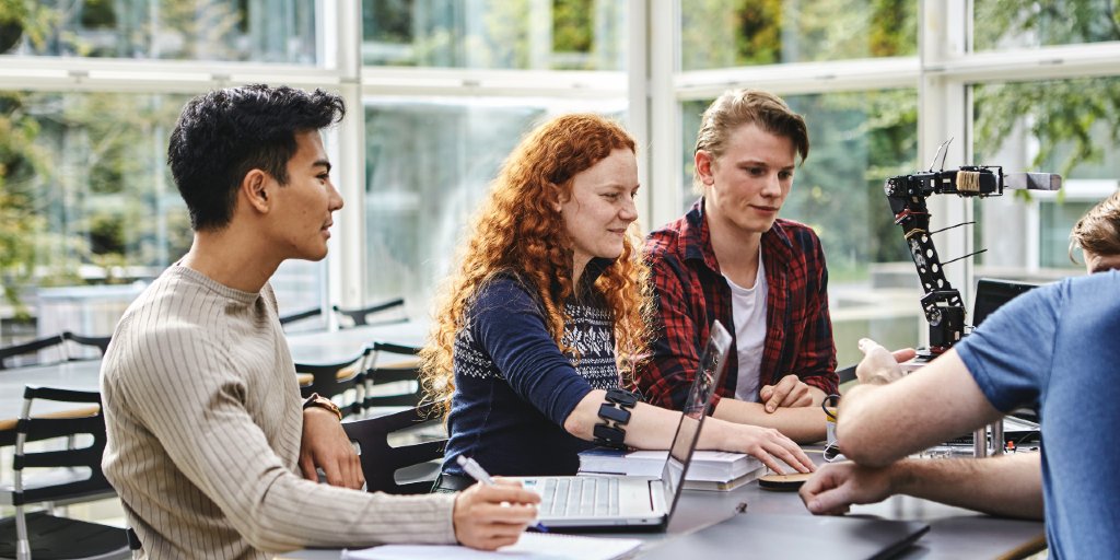
[[[731,349],[731,335],[719,321],[713,321],[710,330],[708,343],[700,355],[697,376],[684,399],[684,413],[676,424],[676,436],[673,437],[669,460],[665,461],[662,473],[665,496],[673,498],[670,507],[676,505],[678,494],[684,480],[685,465],[689,464],[696,449],[703,417],[708,413],[708,405],[711,403],[712,394],[716,393],[716,388],[724,379],[724,368]]]

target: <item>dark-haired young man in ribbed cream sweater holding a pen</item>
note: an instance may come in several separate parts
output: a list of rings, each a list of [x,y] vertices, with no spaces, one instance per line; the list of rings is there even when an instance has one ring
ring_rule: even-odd
[[[284,260],[327,254],[343,199],[319,130],[344,113],[330,93],[253,85],[192,100],[171,133],[194,242],[129,307],[101,380],[105,475],[149,557],[263,559],[386,542],[494,549],[535,517],[539,498],[514,485],[362,492],[338,417],[300,399],[268,281]],[[330,484],[314,482],[316,467]]]

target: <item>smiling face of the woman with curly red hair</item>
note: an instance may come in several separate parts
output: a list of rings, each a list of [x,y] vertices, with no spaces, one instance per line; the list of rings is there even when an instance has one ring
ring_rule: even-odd
[[[571,197],[560,203],[564,228],[572,242],[575,270],[592,258],[617,259],[626,228],[637,220],[637,158],[616,149],[572,177]]]

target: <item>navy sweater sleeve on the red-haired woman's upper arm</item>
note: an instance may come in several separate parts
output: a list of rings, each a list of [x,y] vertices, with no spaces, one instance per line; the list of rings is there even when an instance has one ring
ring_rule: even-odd
[[[497,279],[484,288],[470,312],[470,328],[502,376],[522,399],[557,426],[591,385],[549,336],[544,317],[525,287]]]

